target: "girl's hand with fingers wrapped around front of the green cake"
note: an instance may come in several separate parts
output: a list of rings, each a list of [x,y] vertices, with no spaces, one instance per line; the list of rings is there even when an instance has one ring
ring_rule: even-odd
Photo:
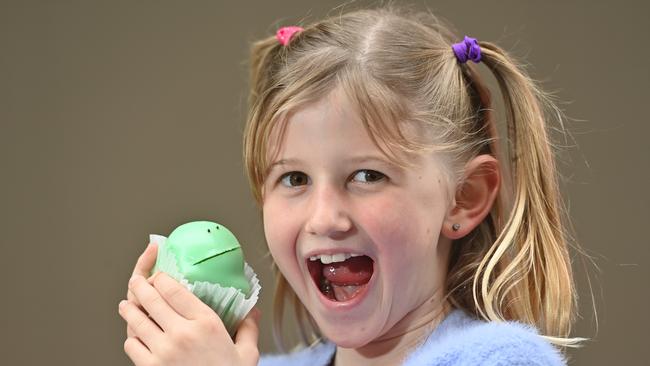
[[[257,365],[259,310],[248,314],[233,342],[219,316],[178,281],[157,273],[151,282],[141,275],[129,281],[129,290],[145,311],[131,301],[119,305],[120,315],[134,333],[124,342],[133,363]]]

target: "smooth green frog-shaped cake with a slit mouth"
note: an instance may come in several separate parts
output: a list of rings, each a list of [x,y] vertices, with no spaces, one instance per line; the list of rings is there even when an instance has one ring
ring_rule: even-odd
[[[172,231],[165,245],[190,283],[207,281],[249,293],[241,246],[223,225],[210,221],[183,224]]]

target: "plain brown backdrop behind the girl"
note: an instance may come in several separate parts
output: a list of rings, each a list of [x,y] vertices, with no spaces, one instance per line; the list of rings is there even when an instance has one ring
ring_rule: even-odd
[[[563,192],[592,267],[573,365],[647,364],[648,6],[427,1],[566,102]],[[272,282],[241,161],[248,44],[322,1],[0,2],[0,363],[127,365],[117,313],[149,233],[212,219]],[[422,4],[422,3],[418,3]]]

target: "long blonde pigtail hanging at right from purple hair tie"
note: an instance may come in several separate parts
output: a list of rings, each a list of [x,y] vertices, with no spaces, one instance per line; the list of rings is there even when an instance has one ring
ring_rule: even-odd
[[[476,310],[486,320],[536,325],[552,343],[571,346],[580,341],[566,338],[576,292],[544,107],[558,109],[505,52],[480,46],[506,110],[509,159],[502,169],[510,173],[513,202],[474,274]]]

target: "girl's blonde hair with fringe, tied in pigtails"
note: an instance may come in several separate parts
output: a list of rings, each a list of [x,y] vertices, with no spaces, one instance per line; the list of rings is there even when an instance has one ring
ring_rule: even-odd
[[[306,25],[286,46],[274,36],[255,42],[244,135],[253,194],[261,206],[272,133],[282,136],[293,111],[336,87],[358,108],[377,146],[400,165],[408,162],[399,152],[435,151],[449,162],[450,179],[462,184],[464,164],[491,154],[500,161],[505,184],[486,219],[454,242],[447,299],[477,318],[520,321],[556,345],[574,345],[581,339],[567,337],[576,293],[548,136],[549,122],[561,125],[562,115],[511,56],[480,42],[481,63],[496,78],[506,110],[507,137],[499,138],[489,91],[475,65],[458,63],[451,45],[460,38],[450,29],[429,12],[389,4]],[[423,138],[407,138],[405,128],[413,126]],[[278,347],[284,349],[287,299],[302,341],[320,340],[314,320],[277,268],[276,278]]]

